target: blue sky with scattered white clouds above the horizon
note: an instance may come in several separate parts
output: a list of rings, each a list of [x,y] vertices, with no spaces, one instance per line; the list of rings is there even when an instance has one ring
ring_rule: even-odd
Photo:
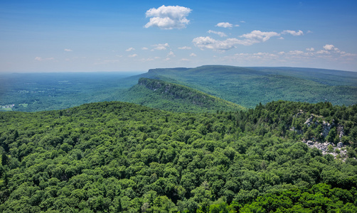
[[[357,1],[0,1],[0,73],[357,71]]]

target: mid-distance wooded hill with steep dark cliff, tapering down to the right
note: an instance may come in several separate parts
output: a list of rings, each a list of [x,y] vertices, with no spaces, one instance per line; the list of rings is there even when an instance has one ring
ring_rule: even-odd
[[[115,98],[113,98],[115,99]],[[181,112],[238,111],[238,104],[213,97],[180,84],[140,78],[138,84],[118,97],[123,102]]]

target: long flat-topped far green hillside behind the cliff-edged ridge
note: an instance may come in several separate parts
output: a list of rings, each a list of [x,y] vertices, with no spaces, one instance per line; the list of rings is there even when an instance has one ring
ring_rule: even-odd
[[[296,67],[231,67],[153,69],[139,77],[157,78],[198,89],[243,107],[260,102],[357,103],[357,72]]]

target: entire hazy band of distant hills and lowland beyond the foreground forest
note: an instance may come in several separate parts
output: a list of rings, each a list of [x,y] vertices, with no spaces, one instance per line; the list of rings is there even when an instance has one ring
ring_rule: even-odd
[[[190,95],[177,99],[162,92],[153,93],[137,85],[142,77],[162,80],[175,88],[186,86],[181,87],[186,88],[183,89],[186,92],[196,89],[195,92],[203,92],[207,97],[218,97],[220,105],[200,105],[192,102]],[[357,103],[357,72],[301,67],[205,65],[152,69],[132,76],[117,72],[1,75],[0,81],[0,107],[14,104],[14,107],[3,109],[6,111],[65,109],[103,101],[133,102],[191,112],[230,110],[238,105],[253,108],[277,100],[346,106]],[[173,107],[174,103],[179,107]],[[223,107],[223,103],[229,103],[228,107]],[[233,103],[238,105],[232,108]]]

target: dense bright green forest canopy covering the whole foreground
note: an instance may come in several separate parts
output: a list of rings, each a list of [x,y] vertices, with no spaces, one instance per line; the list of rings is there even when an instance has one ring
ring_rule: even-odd
[[[301,142],[311,114],[343,126],[320,140],[346,143],[346,162]],[[356,104],[329,102],[0,112],[0,212],[357,212],[356,124]]]

